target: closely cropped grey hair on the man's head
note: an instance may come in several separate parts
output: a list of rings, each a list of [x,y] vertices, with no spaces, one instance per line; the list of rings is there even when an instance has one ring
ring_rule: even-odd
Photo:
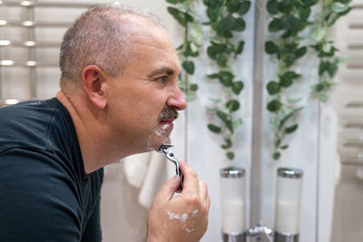
[[[128,15],[142,16],[162,27],[156,15],[121,5],[96,5],[65,32],[60,52],[61,88],[78,86],[83,68],[96,65],[113,78],[123,74],[132,60],[130,34],[122,22]]]

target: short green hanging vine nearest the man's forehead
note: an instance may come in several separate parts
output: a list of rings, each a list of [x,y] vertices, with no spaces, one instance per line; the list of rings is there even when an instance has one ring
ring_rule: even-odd
[[[179,86],[186,95],[187,101],[196,97],[198,84],[191,82],[190,76],[195,73],[195,63],[192,58],[199,56],[201,48],[201,24],[196,19],[196,1],[194,0],[166,0],[174,5],[168,6],[167,10],[173,18],[184,28],[182,44],[176,48],[182,63],[182,73],[179,77]]]

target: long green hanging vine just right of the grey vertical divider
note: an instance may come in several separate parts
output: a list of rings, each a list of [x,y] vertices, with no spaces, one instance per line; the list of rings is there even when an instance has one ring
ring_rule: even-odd
[[[280,158],[281,150],[289,148],[289,144],[284,143],[286,135],[299,127],[292,120],[302,107],[299,106],[299,99],[289,98],[287,92],[301,77],[301,74],[295,72],[294,65],[307,53],[308,47],[302,44],[304,38],[299,34],[309,26],[311,6],[317,2],[318,0],[270,0],[267,3],[267,10],[272,16],[268,28],[271,35],[275,34],[275,40],[267,41],[265,50],[276,58],[279,65],[277,81],[267,84],[270,94],[267,109],[272,112],[270,124],[274,136],[274,160]]]

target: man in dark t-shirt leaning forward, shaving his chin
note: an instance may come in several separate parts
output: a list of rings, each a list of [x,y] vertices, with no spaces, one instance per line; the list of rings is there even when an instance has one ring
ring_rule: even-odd
[[[64,35],[61,91],[0,109],[0,240],[101,241],[103,166],[170,142],[186,102],[173,45],[149,15],[95,6]],[[198,241],[207,186],[181,162],[152,203],[147,241]],[[116,204],[114,206],[117,206]],[[120,238],[123,241],[123,238]]]

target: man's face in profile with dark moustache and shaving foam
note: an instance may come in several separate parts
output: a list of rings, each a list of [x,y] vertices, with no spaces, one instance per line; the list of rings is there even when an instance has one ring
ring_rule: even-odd
[[[132,152],[158,150],[162,143],[171,141],[176,111],[186,108],[177,84],[180,62],[159,26],[135,17],[123,27],[131,33],[134,56],[123,76],[111,82],[111,125]]]

